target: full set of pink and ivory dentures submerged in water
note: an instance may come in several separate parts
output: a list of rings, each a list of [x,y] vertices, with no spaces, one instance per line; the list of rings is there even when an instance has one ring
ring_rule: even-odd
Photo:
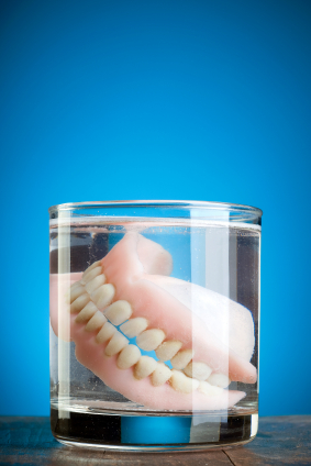
[[[54,332],[74,340],[77,359],[132,401],[157,410],[229,408],[245,396],[225,389],[232,380],[256,381],[252,314],[170,273],[168,252],[126,233],[84,274],[51,277]],[[158,360],[141,351],[155,351]]]

